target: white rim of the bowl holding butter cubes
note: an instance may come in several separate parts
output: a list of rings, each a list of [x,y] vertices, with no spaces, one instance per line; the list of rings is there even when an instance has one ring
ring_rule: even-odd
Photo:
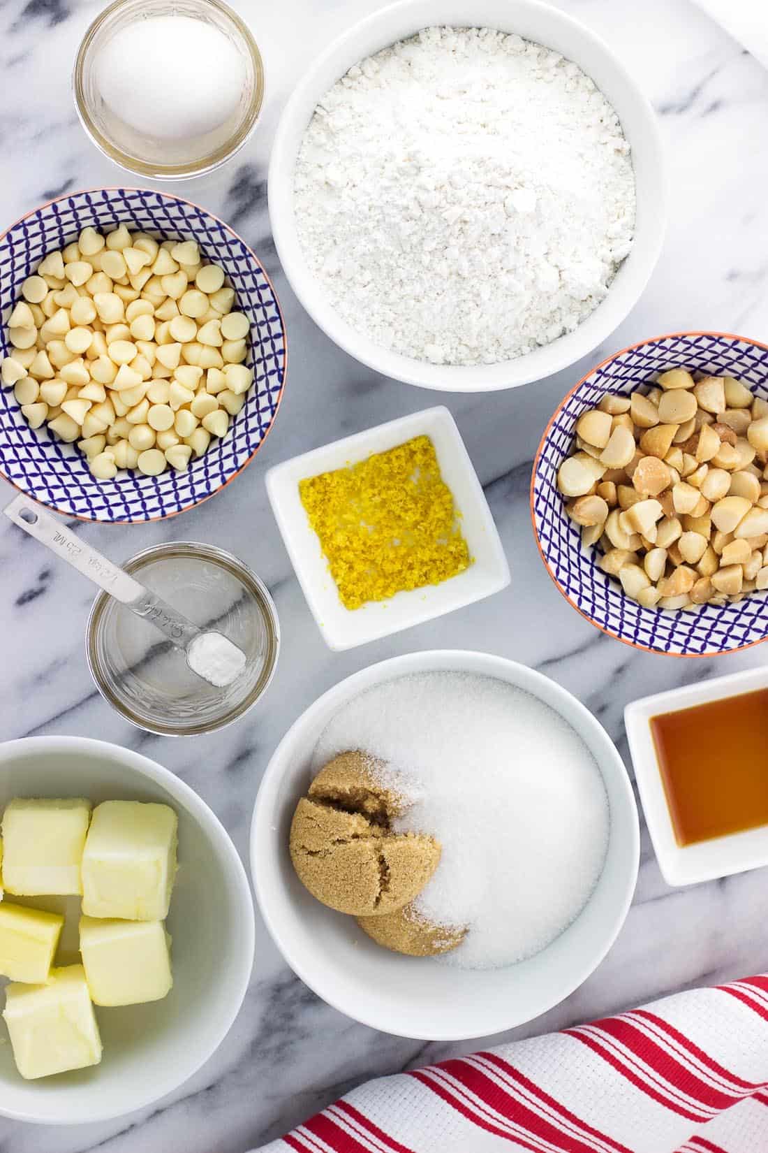
[[[97,1110],[89,1114],[88,1117],[73,1117],[70,1114],[66,1113],[60,1116],[37,1117],[32,1114],[20,1111],[17,1109],[9,1109],[0,1099],[0,1116],[10,1117],[14,1121],[26,1121],[33,1124],[74,1125],[83,1124],[85,1122],[90,1124],[91,1122],[112,1121],[115,1117],[122,1117],[127,1114],[135,1113],[138,1109],[144,1109],[146,1106],[153,1105],[168,1093],[173,1093],[174,1090],[180,1088],[190,1079],[190,1077],[193,1077],[195,1073],[203,1068],[206,1061],[213,1056],[234,1025],[235,1019],[243,1007],[245,994],[248,993],[256,952],[256,915],[253,900],[251,898],[251,887],[249,884],[248,873],[245,872],[245,866],[239,858],[239,853],[235,849],[231,837],[213,809],[210,808],[203,798],[199,797],[193,789],[185,784],[181,777],[177,777],[175,773],[172,773],[170,769],[164,768],[157,761],[145,756],[144,753],[137,753],[132,748],[126,748],[123,745],[115,745],[109,740],[98,740],[94,737],[58,737],[53,734],[40,737],[20,737],[15,740],[0,743],[0,768],[6,761],[12,760],[17,754],[25,755],[28,752],[43,752],[46,749],[52,753],[56,751],[77,752],[83,748],[86,748],[94,754],[100,754],[107,759],[111,756],[114,758],[116,749],[121,758],[124,759],[123,763],[127,764],[128,768],[136,770],[139,776],[149,777],[151,781],[160,784],[164,789],[167,789],[172,796],[177,797],[184,804],[185,808],[192,814],[195,820],[198,821],[206,836],[212,835],[218,839],[218,847],[221,852],[229,857],[235,869],[235,875],[237,876],[237,897],[241,905],[241,915],[245,921],[249,948],[248,952],[245,950],[243,951],[243,958],[239,965],[239,974],[237,975],[236,982],[236,996],[233,997],[233,1004],[236,1003],[234,1012],[220,1019],[214,1047],[200,1060],[196,1057],[191,1061],[189,1067],[184,1069],[184,1073],[181,1079],[177,1077],[175,1070],[170,1070],[166,1082],[158,1082],[157,1088],[152,1090],[149,1095],[131,1102],[127,1109],[117,1111],[114,1109],[104,1109],[101,1111]]]

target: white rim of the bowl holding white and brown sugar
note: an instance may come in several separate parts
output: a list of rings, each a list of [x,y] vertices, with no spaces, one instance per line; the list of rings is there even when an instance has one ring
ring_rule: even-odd
[[[616,748],[614,741],[608,736],[606,729],[601,725],[598,718],[590,711],[590,709],[578,700],[572,693],[567,688],[563,688],[556,680],[545,676],[545,673],[539,672],[535,669],[531,669],[529,665],[523,664],[519,661],[512,661],[510,657],[499,656],[493,653],[484,653],[477,649],[425,649],[424,651],[405,653],[400,656],[388,657],[385,661],[379,661],[375,664],[366,665],[364,669],[351,673],[349,677],[344,677],[342,680],[337,681],[325,693],[322,693],[312,704],[309,706],[290,725],[282,740],[272,754],[267,768],[261,777],[261,783],[259,785],[259,791],[256,798],[256,805],[253,806],[253,816],[251,820],[251,837],[250,837],[250,858],[251,858],[251,880],[253,882],[253,891],[256,894],[256,899],[259,906],[259,911],[264,921],[269,930],[272,940],[277,945],[277,949],[282,954],[284,960],[290,966],[290,969],[296,973],[296,975],[317,994],[326,1004],[329,1004],[333,1009],[343,1013],[345,1017],[350,1017],[352,1020],[359,1022],[362,1025],[367,1025],[370,1028],[375,1028],[379,1032],[385,1032],[394,1037],[405,1037],[413,1040],[432,1040],[432,1041],[462,1041],[462,1040],[473,1040],[478,1037],[489,1035],[487,1028],[482,1028],[473,1033],[457,1033],[451,1030],[447,1024],[444,1027],[439,1030],[433,1030],[428,1038],[425,1038],[424,1033],[409,1032],[408,1028],[397,1027],[393,1028],[390,1024],[382,1023],[375,1016],[363,1012],[352,1015],[348,1007],[340,1003],[340,1000],[334,996],[327,996],[322,988],[322,982],[315,981],[310,967],[304,963],[303,957],[297,957],[290,948],[286,947],[284,937],[280,930],[280,926],[276,919],[272,914],[272,909],[269,904],[268,896],[265,896],[265,888],[260,876],[260,868],[257,865],[257,854],[260,854],[259,843],[260,843],[260,830],[263,826],[269,826],[272,823],[271,806],[274,801],[274,796],[277,786],[282,779],[283,767],[281,763],[281,758],[284,755],[284,751],[292,743],[298,730],[303,728],[309,728],[313,718],[325,710],[325,708],[339,701],[341,703],[348,700],[352,695],[352,689],[365,681],[368,681],[372,675],[377,675],[375,680],[371,681],[368,687],[373,684],[381,684],[389,679],[395,679],[400,676],[408,676],[410,671],[415,672],[427,672],[429,671],[428,664],[433,661],[450,660],[455,662],[455,670],[461,671],[462,668],[466,668],[467,662],[473,662],[476,660],[481,661],[485,664],[485,670],[482,672],[477,671],[478,676],[499,676],[500,679],[507,681],[504,672],[509,672],[510,669],[514,670],[518,680],[515,684],[519,685],[525,692],[530,692],[532,695],[541,699],[540,694],[537,692],[537,687],[546,684],[549,692],[561,700],[568,701],[569,706],[573,708],[573,711],[579,717],[579,728],[572,724],[572,728],[581,739],[585,741],[591,752],[600,751],[604,754],[604,763],[613,763],[616,781],[618,782],[618,789],[622,794],[622,804],[626,806],[626,812],[633,817],[631,820],[632,835],[631,844],[626,847],[628,860],[630,864],[629,879],[625,887],[625,892],[619,907],[616,911],[613,924],[610,925],[610,930],[606,934],[603,942],[600,948],[595,949],[592,959],[583,965],[578,972],[576,972],[568,981],[564,982],[562,992],[560,992],[553,1000],[548,1000],[542,1003],[541,1007],[537,1007],[537,1011],[527,1020],[533,1020],[542,1013],[547,1012],[549,1009],[560,1004],[567,997],[569,997],[584,981],[595,971],[600,963],[604,959],[609,949],[616,941],[621,929],[624,926],[626,915],[629,913],[630,906],[632,904],[632,898],[634,895],[634,889],[637,886],[637,876],[640,864],[640,823],[638,815],[637,801],[634,799],[634,793],[632,790],[632,784],[626,770],[626,766]],[[441,665],[441,668],[443,668]],[[507,681],[511,683],[511,681]],[[550,704],[550,707],[554,707]],[[562,715],[562,714],[561,714]],[[568,723],[571,724],[570,718],[567,718]],[[603,760],[600,762],[600,771],[602,773]],[[266,838],[265,838],[266,843]],[[591,899],[591,898],[590,898]],[[587,902],[588,903],[588,902]],[[503,1008],[500,1008],[500,1013],[503,1012]],[[524,1024],[524,1020],[504,1020],[500,1017],[500,1024],[495,1032],[503,1032],[507,1028],[514,1028],[517,1025]]]

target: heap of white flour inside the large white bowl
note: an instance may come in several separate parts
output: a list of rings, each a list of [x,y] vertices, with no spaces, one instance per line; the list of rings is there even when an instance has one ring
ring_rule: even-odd
[[[322,98],[295,209],[310,267],[357,331],[491,364],[596,308],[632,243],[634,174],[577,65],[519,36],[429,28]]]

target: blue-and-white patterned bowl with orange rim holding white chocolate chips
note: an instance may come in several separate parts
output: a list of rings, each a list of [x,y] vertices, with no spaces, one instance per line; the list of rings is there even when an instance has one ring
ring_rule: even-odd
[[[162,240],[195,239],[203,255],[220,264],[251,321],[246,364],[254,383],[229,431],[184,473],[161,476],[123,472],[114,481],[96,481],[74,445],[45,427],[33,430],[22,416],[13,389],[0,390],[0,472],[16,488],[56,512],[82,520],[120,523],[160,520],[192,508],[239,473],[272,428],[286,377],[286,329],[269,278],[251,249],[205,209],[177,196],[136,188],[98,188],[61,196],[36,209],[0,236],[2,316],[18,296],[23,280],[55,248],[75,240],[88,225],[114,228],[121,223]],[[0,359],[8,354],[6,325]]]

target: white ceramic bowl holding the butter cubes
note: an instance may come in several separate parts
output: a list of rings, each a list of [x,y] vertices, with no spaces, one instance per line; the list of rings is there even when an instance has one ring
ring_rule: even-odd
[[[174,987],[152,1004],[97,1009],[104,1057],[92,1069],[25,1082],[10,1045],[0,1045],[0,1114],[46,1124],[105,1121],[175,1090],[226,1037],[253,964],[245,869],[223,827],[189,785],[146,756],[101,740],[31,737],[0,745],[0,807],[13,797],[67,796],[161,801],[178,814],[180,869],[168,915]],[[77,959],[78,898],[35,903],[56,907],[64,899],[59,959],[70,964]]]

